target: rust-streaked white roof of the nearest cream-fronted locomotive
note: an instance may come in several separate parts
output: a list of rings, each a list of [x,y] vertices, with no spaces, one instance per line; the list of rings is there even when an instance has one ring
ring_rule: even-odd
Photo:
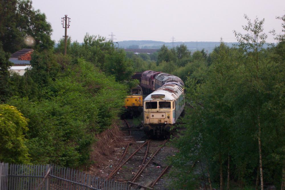
[[[183,89],[176,84],[167,84],[158,89],[154,92],[146,96],[144,101],[150,100],[177,100],[179,96],[183,93]],[[156,96],[155,96],[156,95]]]

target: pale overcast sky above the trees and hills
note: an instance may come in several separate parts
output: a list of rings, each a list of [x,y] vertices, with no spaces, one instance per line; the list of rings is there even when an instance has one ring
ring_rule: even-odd
[[[243,32],[247,14],[252,20],[264,18],[264,32],[281,33],[285,0],[32,0],[33,7],[46,14],[52,39],[64,36],[61,18],[70,17],[68,36],[82,42],[84,35],[115,35],[114,41],[155,40],[236,42],[233,30]],[[274,42],[268,35],[268,42]]]

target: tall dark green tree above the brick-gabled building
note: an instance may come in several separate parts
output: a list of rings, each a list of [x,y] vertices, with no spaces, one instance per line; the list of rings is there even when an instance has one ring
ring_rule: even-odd
[[[5,52],[14,53],[27,47],[42,51],[53,47],[51,25],[44,13],[33,9],[31,1],[2,0],[0,6],[3,10],[0,13],[0,41]],[[33,46],[25,44],[28,36],[32,37]]]

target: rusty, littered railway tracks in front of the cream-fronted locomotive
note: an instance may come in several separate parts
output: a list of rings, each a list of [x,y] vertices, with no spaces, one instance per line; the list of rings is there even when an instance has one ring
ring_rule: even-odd
[[[122,122],[123,128],[132,128],[132,120]],[[167,189],[164,174],[170,169],[167,157],[177,152],[168,140],[147,140],[143,131],[126,130],[130,143],[123,147],[119,161],[110,165],[107,178],[128,182],[134,189],[149,187]],[[110,169],[110,168],[109,168]],[[167,180],[169,181],[169,180]],[[136,185],[139,184],[139,185]]]

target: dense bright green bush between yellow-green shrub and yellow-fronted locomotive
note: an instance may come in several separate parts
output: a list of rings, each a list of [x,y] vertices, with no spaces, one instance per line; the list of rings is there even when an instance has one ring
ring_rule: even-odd
[[[88,163],[94,134],[117,118],[127,90],[83,59],[59,75],[44,88],[48,98],[15,97],[9,104],[30,119],[26,138],[32,163],[77,167]]]

